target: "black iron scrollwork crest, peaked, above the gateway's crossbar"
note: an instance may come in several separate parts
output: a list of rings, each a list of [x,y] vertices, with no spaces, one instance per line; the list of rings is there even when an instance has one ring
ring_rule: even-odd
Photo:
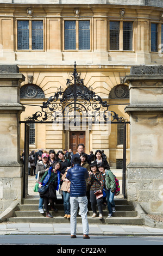
[[[74,71],[70,72],[70,79],[67,79],[66,90],[61,87],[46,102],[42,103],[41,111],[35,112],[28,121],[74,121],[77,125],[78,114],[82,115],[83,121],[104,123],[113,121],[124,121],[114,111],[109,111],[109,104],[103,101],[99,95],[93,92],[92,88],[84,86],[83,79],[80,79],[80,72],[77,72],[76,63]],[[72,82],[74,81],[74,82]]]

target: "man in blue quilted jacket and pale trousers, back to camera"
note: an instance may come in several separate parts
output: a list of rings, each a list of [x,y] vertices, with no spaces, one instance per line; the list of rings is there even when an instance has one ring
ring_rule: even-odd
[[[79,157],[74,157],[73,167],[67,170],[66,178],[71,181],[70,185],[70,205],[71,205],[71,238],[76,238],[77,211],[78,206],[82,217],[83,238],[89,239],[89,223],[87,221],[87,197],[86,179],[89,173],[86,168],[80,166]]]

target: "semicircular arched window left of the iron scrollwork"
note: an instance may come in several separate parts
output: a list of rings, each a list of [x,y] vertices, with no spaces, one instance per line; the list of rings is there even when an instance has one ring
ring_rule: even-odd
[[[21,99],[45,98],[43,90],[36,84],[26,84],[20,89]]]

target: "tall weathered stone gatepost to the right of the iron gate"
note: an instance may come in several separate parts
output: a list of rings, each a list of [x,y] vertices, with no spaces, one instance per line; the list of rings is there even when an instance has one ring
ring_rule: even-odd
[[[163,214],[163,66],[133,66],[129,83],[130,163],[127,198]]]

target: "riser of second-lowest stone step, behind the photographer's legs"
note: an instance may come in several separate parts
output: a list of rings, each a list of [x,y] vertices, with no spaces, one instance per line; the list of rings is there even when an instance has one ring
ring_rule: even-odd
[[[58,211],[58,212],[53,212],[49,211],[53,216],[64,216],[65,212],[64,211]],[[93,212],[88,212],[87,216],[92,216]],[[39,211],[15,211],[14,217],[46,217],[46,213],[40,214]],[[78,215],[79,216],[79,215]],[[108,211],[103,211],[103,216],[107,217],[108,216]],[[114,217],[136,217],[137,212],[136,211],[116,211],[113,214]]]

